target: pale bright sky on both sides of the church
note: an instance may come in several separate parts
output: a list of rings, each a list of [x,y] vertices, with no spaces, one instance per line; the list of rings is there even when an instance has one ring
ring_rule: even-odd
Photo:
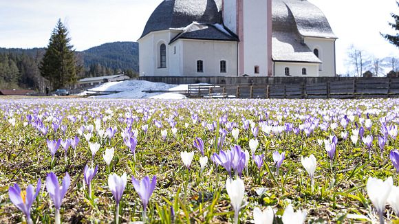
[[[0,0],[0,47],[47,46],[56,21],[69,30],[81,51],[103,43],[137,41],[147,19],[163,0]],[[396,56],[399,48],[380,36],[393,34],[388,21],[399,14],[396,0],[309,0],[327,16],[336,41],[338,74],[351,70],[348,48],[370,58]]]

